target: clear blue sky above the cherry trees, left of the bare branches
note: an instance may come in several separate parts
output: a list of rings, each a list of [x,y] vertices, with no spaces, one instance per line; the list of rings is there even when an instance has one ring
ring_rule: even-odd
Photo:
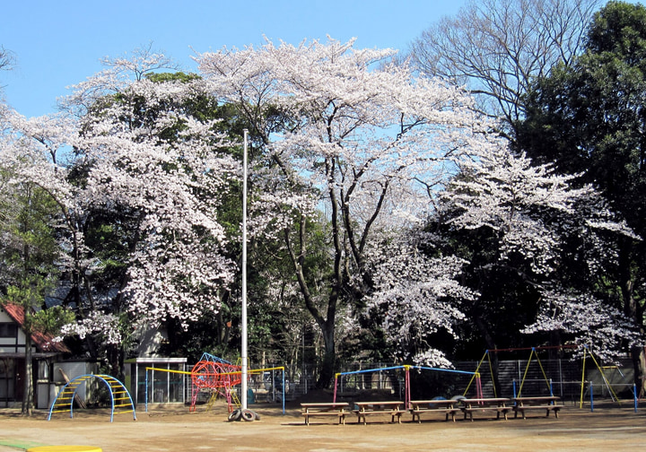
[[[465,0],[13,0],[4,2],[0,45],[16,67],[0,72],[7,103],[32,117],[56,110],[65,87],[100,71],[102,57],[148,46],[187,71],[196,52],[243,48],[263,36],[357,38],[356,48],[405,49]],[[194,49],[194,50],[193,50]]]

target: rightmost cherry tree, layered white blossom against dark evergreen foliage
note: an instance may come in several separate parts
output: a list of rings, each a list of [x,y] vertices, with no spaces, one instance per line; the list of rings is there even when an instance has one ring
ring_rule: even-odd
[[[489,287],[493,274],[504,274],[508,290],[514,279],[524,287],[511,294],[527,300],[527,317],[513,305],[505,309],[515,312],[517,323],[531,325],[526,333],[561,332],[575,343],[598,340],[598,352],[615,356],[617,343],[634,339],[630,322],[615,315],[618,301],[607,285],[617,281],[618,240],[637,238],[592,187],[572,188],[572,178],[549,165],[532,166],[525,155],[502,147],[467,162],[441,194],[441,222],[488,243],[482,256],[472,255],[471,284],[481,295],[466,309],[488,348],[496,346],[491,328],[504,300]],[[591,334],[596,328],[598,334]]]

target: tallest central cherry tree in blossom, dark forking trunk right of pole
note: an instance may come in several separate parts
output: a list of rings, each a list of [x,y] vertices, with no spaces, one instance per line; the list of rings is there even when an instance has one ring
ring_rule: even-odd
[[[238,106],[263,149],[253,164],[251,228],[282,239],[291,256],[324,337],[319,387],[335,370],[338,309],[361,305],[371,290],[371,235],[420,221],[425,190],[446,179],[450,161],[489,145],[464,91],[389,64],[394,53],[329,39],[196,58],[214,96]],[[307,220],[317,211],[329,222],[333,268],[324,277],[306,265]]]

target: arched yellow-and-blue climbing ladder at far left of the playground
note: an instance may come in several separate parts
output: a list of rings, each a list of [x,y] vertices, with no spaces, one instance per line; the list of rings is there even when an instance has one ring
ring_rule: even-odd
[[[117,378],[109,375],[81,375],[71,379],[64,387],[58,391],[57,397],[49,407],[48,421],[52,413],[62,413],[69,410],[70,417],[74,417],[74,398],[77,396],[79,388],[89,380],[95,379],[103,382],[109,391],[110,397],[110,422],[114,421],[115,413],[133,413],[133,420],[136,421],[135,404],[127,388]],[[121,408],[115,412],[115,408]]]

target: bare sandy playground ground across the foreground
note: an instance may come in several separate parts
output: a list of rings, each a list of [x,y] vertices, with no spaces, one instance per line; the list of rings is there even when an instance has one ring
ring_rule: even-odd
[[[350,416],[345,425],[332,418],[303,422],[298,407],[282,413],[277,405],[251,405],[260,414],[255,422],[228,422],[226,405],[205,407],[196,413],[188,408],[143,408],[133,421],[132,413],[92,410],[59,413],[47,421],[46,412],[23,418],[15,410],[0,410],[0,452],[15,452],[45,445],[89,445],[104,452],[126,451],[350,451],[350,450],[447,450],[533,451],[643,450],[646,445],[646,410],[567,406],[559,415],[543,417],[530,413],[527,420],[495,420],[490,413],[476,413],[474,422],[444,422],[441,414],[426,415],[422,423],[390,423],[388,415],[368,417],[368,425]]]

